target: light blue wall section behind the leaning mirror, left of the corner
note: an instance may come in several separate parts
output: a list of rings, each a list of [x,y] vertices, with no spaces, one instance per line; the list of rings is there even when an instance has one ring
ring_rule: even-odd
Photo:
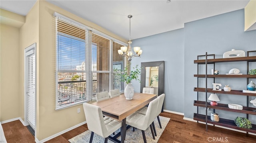
[[[141,62],[164,62],[164,109],[184,112],[184,29],[177,29],[132,41],[132,47],[140,46],[142,56],[134,57],[132,67]],[[140,83],[133,81],[135,92],[140,92]]]

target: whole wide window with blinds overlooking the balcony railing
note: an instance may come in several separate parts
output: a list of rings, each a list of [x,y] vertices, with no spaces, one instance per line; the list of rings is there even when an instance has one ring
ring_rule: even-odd
[[[113,69],[128,61],[117,52],[125,44],[66,19],[56,16],[56,110],[96,100],[97,92],[124,91]]]

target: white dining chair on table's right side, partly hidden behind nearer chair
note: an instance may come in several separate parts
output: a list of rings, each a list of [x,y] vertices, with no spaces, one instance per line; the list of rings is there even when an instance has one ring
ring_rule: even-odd
[[[164,104],[164,97],[165,97],[164,93],[157,97],[157,98],[159,98],[159,100],[158,100],[158,105],[157,105],[156,117],[157,117],[157,120],[158,120],[158,123],[159,123],[159,126],[160,126],[161,129],[162,129],[162,125],[161,125],[161,121],[160,121],[160,118],[159,118],[159,114],[162,112],[162,106]],[[140,113],[140,114],[143,114],[143,115],[146,115],[147,110],[148,110],[148,107],[142,107],[136,112]],[[155,132],[155,135],[156,135],[156,132]]]

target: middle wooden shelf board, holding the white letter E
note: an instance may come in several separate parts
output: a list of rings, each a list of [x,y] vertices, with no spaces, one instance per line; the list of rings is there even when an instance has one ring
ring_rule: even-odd
[[[205,92],[205,88],[195,87],[194,91]],[[228,91],[224,91],[223,89],[221,91],[218,91],[218,90],[212,90],[212,88],[207,88],[207,92],[220,93],[220,94],[244,95],[244,96],[256,96],[256,93],[246,93],[246,92],[243,92],[243,90],[231,90],[230,92],[228,92]]]

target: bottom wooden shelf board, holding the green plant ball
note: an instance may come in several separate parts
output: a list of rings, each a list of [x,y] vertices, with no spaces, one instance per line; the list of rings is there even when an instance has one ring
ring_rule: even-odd
[[[194,120],[205,122],[205,115],[194,113]],[[256,125],[252,124],[251,129],[245,129],[242,127],[237,127],[236,124],[234,123],[234,120],[230,120],[230,119],[220,118],[219,122],[214,122],[211,120],[210,116],[207,116],[207,123],[212,123],[214,125],[220,125],[223,127],[229,127],[232,129],[238,129],[238,130],[246,131],[250,133],[256,133]]]

